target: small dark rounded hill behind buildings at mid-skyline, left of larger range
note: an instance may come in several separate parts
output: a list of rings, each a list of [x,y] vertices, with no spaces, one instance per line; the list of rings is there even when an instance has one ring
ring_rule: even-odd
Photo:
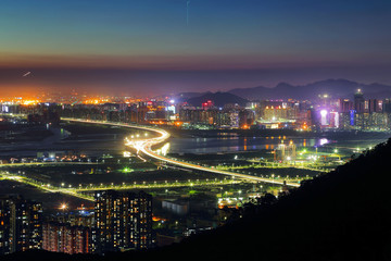
[[[193,97],[187,100],[190,105],[201,107],[203,102],[207,102],[209,100],[213,101],[216,107],[224,107],[228,103],[237,103],[239,105],[245,105],[249,101],[239,96],[229,94],[229,92],[206,92],[199,97]]]

